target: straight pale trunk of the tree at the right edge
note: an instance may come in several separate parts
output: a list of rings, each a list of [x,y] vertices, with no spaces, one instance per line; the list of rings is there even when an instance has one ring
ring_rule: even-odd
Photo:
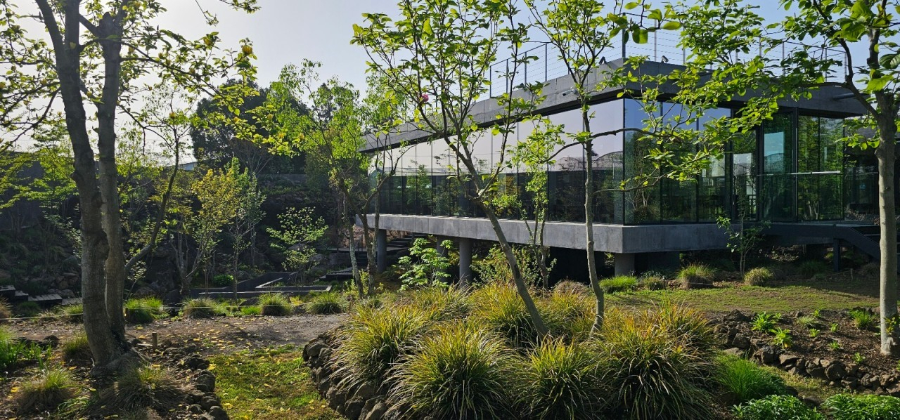
[[[881,219],[881,353],[900,353],[898,337],[900,326],[897,317],[897,219],[894,192],[894,166],[896,164],[896,122],[892,115],[879,121],[881,141],[875,151],[878,157],[878,216]],[[894,322],[888,331],[887,320]]]

